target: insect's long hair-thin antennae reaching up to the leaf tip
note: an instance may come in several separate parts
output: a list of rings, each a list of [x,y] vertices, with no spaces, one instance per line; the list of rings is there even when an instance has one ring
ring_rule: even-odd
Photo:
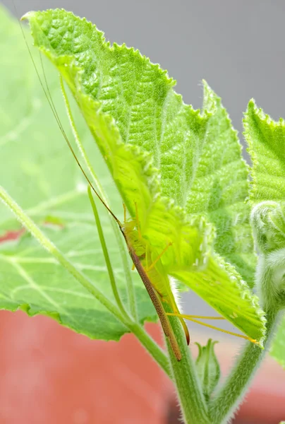
[[[16,9],[15,4],[14,4],[14,8]],[[24,33],[24,30],[23,30],[23,27],[22,27],[22,25],[20,23],[19,23],[19,25],[20,25],[20,30],[21,30],[21,32],[23,34],[23,37],[24,37],[24,40],[25,40],[25,45],[27,46],[28,52],[30,54],[30,59],[32,60],[32,64],[33,64],[33,66],[35,68],[35,71],[37,73],[37,78],[40,81],[40,85],[42,87],[42,90],[44,92],[44,95],[47,98],[47,101],[49,102],[49,107],[51,108],[51,112],[54,115],[54,119],[56,120],[56,124],[59,126],[59,129],[61,131],[61,134],[63,135],[63,138],[65,139],[65,141],[66,141],[66,143],[68,145],[68,148],[69,148],[69,150],[71,151],[71,153],[73,155],[73,158],[75,159],[76,163],[78,164],[78,167],[80,167],[81,172],[83,172],[83,175],[84,175],[85,179],[87,180],[88,184],[92,188],[93,192],[96,194],[96,196],[99,199],[99,201],[101,201],[101,203],[104,205],[104,207],[107,209],[107,211],[109,213],[111,213],[111,216],[114,218],[114,220],[116,220],[116,223],[119,225],[119,228],[121,229],[122,228],[121,222],[116,217],[116,215],[111,211],[111,209],[109,208],[109,206],[107,206],[107,204],[104,202],[104,200],[102,199],[102,197],[99,195],[99,193],[95,189],[94,185],[92,184],[90,178],[87,176],[85,170],[83,169],[83,166],[80,164],[80,162],[79,162],[79,160],[78,160],[78,158],[77,158],[77,156],[75,154],[75,151],[74,151],[73,147],[71,146],[71,142],[68,140],[68,136],[66,135],[66,132],[63,129],[63,126],[61,124],[61,120],[59,119],[59,114],[57,113],[56,107],[54,105],[54,101],[52,100],[51,92],[50,92],[49,86],[47,84],[47,77],[46,77],[46,74],[44,72],[44,66],[42,64],[42,57],[40,56],[40,61],[41,61],[41,64],[42,64],[42,70],[43,70],[43,73],[44,73],[44,81],[46,83],[47,88],[44,87],[44,83],[42,82],[42,78],[40,76],[40,73],[37,70],[37,66],[35,64],[34,58],[32,57],[32,52],[30,51],[30,46],[28,45],[28,41],[27,41],[27,39],[25,37],[25,33]]]

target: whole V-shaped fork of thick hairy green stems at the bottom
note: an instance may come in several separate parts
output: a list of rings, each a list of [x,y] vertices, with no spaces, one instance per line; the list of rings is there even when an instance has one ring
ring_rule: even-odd
[[[261,259],[260,262],[262,262]],[[265,358],[265,353],[274,336],[274,330],[284,310],[281,310],[282,305],[280,298],[277,297],[275,302],[272,301],[272,296],[270,296],[272,291],[271,273],[268,272],[268,266],[263,267],[263,270],[264,272],[262,273],[257,272],[257,276],[260,280],[258,281],[260,291],[262,291],[263,300],[267,298],[271,299],[271,302],[265,303],[265,312],[267,314],[267,334],[264,341],[265,348],[262,349],[254,343],[246,343],[229,377],[227,377],[226,382],[214,396],[214,399],[210,401],[210,404],[206,403],[205,397],[202,394],[200,382],[195,370],[195,364],[190,356],[189,348],[186,346],[185,334],[181,323],[177,318],[174,319],[174,317],[169,317],[182,354],[182,360],[179,363],[172,353],[171,346],[166,338],[171,360],[171,371],[176,384],[185,424],[228,423],[238,404],[241,403],[255,371],[259,367],[262,359]],[[166,312],[171,312],[169,306],[166,304],[164,304],[164,309]]]

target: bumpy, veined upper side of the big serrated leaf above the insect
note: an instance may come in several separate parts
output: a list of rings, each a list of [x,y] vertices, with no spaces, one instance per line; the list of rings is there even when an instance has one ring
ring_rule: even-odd
[[[35,45],[49,50],[46,54],[54,63],[56,57],[64,62],[68,56],[84,69],[85,93],[115,119],[123,142],[152,153],[164,195],[179,206],[187,205],[188,213],[203,213],[214,223],[217,252],[238,266],[252,285],[255,257],[244,204],[248,172],[236,131],[217,95],[205,84],[201,116],[174,92],[175,81],[165,71],[138,50],[110,46],[95,25],[59,10],[27,17]],[[78,95],[68,70],[59,70],[73,95]],[[130,210],[132,205],[128,206]]]

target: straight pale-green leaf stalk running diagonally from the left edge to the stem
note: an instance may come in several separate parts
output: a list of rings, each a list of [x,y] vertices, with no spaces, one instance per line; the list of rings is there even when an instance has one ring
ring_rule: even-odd
[[[25,212],[16,204],[11,196],[4,190],[3,187],[0,186],[0,199],[11,209],[16,218],[23,224],[23,226],[35,237],[35,239],[47,249],[47,251],[52,254],[59,263],[66,268],[66,270],[71,273],[71,275],[83,285],[83,287],[89,291],[104,307],[106,307],[111,314],[114,315],[123,325],[128,328],[129,331],[132,331],[133,334],[138,338],[142,346],[152,355],[152,358],[162,367],[166,375],[169,375],[169,362],[165,353],[161,348],[155,343],[152,338],[146,333],[146,331],[136,322],[128,319],[126,315],[122,314],[121,311],[111,302],[108,298],[104,296],[104,294],[98,290],[95,285],[92,284],[92,281],[89,280],[83,273],[78,271],[78,269],[73,266],[73,264],[66,259],[66,257],[57,249],[49,238],[44,235],[44,233],[37,227],[37,225],[30,219],[29,216],[25,214]]]

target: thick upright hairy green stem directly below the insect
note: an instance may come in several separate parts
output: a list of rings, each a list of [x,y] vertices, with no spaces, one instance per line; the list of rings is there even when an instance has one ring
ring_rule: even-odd
[[[163,303],[166,312],[172,312],[169,305]],[[185,424],[212,424],[207,412],[207,404],[202,394],[202,388],[195,368],[195,363],[190,355],[186,343],[186,336],[177,317],[169,317],[172,329],[181,349],[182,359],[178,362],[174,355],[168,338],[166,343],[169,351],[171,370],[176,384],[183,420]]]

